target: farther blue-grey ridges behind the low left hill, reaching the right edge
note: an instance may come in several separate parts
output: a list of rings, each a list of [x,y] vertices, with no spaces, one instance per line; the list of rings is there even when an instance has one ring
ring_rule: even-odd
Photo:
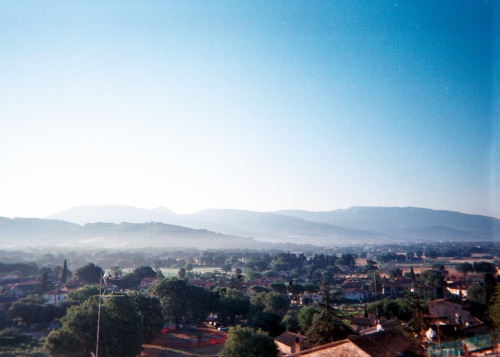
[[[496,218],[415,207],[352,207],[328,212],[209,209],[176,214],[163,207],[146,210],[127,206],[83,206],[49,218],[79,224],[162,222],[271,242],[323,246],[500,238],[500,220]]]

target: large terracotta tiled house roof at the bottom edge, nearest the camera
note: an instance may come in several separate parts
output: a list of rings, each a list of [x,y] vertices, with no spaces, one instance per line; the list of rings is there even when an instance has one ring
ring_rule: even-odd
[[[399,357],[425,356],[424,349],[412,338],[402,332],[391,329],[367,335],[350,336],[326,345],[313,347],[289,357]]]

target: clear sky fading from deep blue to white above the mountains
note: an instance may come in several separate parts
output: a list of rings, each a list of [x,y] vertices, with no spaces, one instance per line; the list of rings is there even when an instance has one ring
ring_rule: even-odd
[[[0,1],[0,216],[500,217],[498,1]]]

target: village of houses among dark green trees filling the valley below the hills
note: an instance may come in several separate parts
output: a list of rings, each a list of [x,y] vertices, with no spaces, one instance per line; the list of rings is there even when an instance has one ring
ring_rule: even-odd
[[[276,354],[266,355],[496,353],[500,246],[474,244],[453,252],[447,244],[414,248],[168,252],[154,257],[154,264],[123,269],[97,263],[75,269],[71,259],[48,263],[62,254],[2,263],[0,351],[58,356],[66,355],[64,346],[75,344],[91,351],[95,334],[75,340],[82,326],[71,319],[90,314],[101,293],[107,309],[119,297],[130,300],[140,317],[134,323],[142,326],[135,335],[149,331],[135,338],[131,355],[231,355],[228,350],[235,339],[244,340],[245,329],[273,339]],[[87,254],[96,262],[109,259],[102,252]],[[134,254],[145,263],[149,253]],[[12,252],[3,252],[4,260],[7,255],[15,260]],[[140,301],[156,310],[141,310]],[[92,329],[95,318],[89,316]],[[75,336],[67,340],[70,332]],[[114,338],[120,344],[126,335]]]

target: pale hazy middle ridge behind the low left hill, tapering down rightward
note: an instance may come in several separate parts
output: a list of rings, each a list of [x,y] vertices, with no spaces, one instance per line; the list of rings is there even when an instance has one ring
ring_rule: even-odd
[[[52,215],[74,223],[163,222],[222,234],[253,237],[269,242],[292,242],[332,246],[351,242],[379,241],[378,233],[346,229],[329,223],[268,212],[209,209],[193,214],[176,214],[166,208],[145,210],[127,206],[82,206]]]

